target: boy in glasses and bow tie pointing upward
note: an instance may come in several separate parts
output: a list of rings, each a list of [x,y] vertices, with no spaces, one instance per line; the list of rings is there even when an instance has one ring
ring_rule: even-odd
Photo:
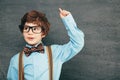
[[[77,25],[69,11],[59,8],[62,19],[70,41],[64,45],[51,45],[53,80],[59,80],[62,64],[74,57],[84,45],[84,34],[77,28]],[[21,19],[19,26],[25,41],[23,49],[23,69],[24,80],[49,80],[49,60],[46,46],[42,43],[49,31],[50,24],[41,12],[30,11]],[[41,48],[39,52],[35,47]],[[31,49],[30,49],[31,48]],[[33,50],[33,51],[31,51]],[[20,53],[19,53],[20,54]],[[19,54],[12,57],[7,74],[8,80],[18,80],[19,74]],[[22,79],[23,80],[23,79]]]

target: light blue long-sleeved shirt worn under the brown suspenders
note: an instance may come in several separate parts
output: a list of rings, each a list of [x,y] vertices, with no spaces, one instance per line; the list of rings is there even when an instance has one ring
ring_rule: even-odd
[[[53,78],[59,80],[62,64],[74,57],[84,46],[84,34],[77,28],[71,14],[62,18],[70,41],[64,45],[51,45],[53,56]],[[49,80],[48,56],[46,46],[45,53],[34,52],[24,59],[25,80]],[[7,74],[8,80],[18,80],[18,57],[19,53],[12,57]]]

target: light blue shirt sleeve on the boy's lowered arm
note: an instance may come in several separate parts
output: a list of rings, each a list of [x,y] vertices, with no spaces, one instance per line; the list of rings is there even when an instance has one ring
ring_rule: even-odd
[[[17,64],[17,63],[16,63]],[[7,80],[18,80],[18,70],[15,67],[15,58],[12,57],[7,73]]]

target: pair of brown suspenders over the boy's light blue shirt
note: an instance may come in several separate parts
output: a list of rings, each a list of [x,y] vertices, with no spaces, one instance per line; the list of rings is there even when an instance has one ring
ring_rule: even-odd
[[[50,46],[46,46],[48,63],[49,63],[49,80],[53,80],[53,61],[52,51]],[[23,67],[23,51],[19,55],[19,80],[24,80],[24,67]]]

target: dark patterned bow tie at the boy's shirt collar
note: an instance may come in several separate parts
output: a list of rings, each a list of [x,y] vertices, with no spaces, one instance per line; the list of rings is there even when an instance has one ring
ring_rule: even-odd
[[[43,45],[41,43],[37,47],[32,47],[32,48],[24,47],[23,51],[25,52],[26,56],[29,56],[32,52],[44,53],[44,47],[43,47]]]

